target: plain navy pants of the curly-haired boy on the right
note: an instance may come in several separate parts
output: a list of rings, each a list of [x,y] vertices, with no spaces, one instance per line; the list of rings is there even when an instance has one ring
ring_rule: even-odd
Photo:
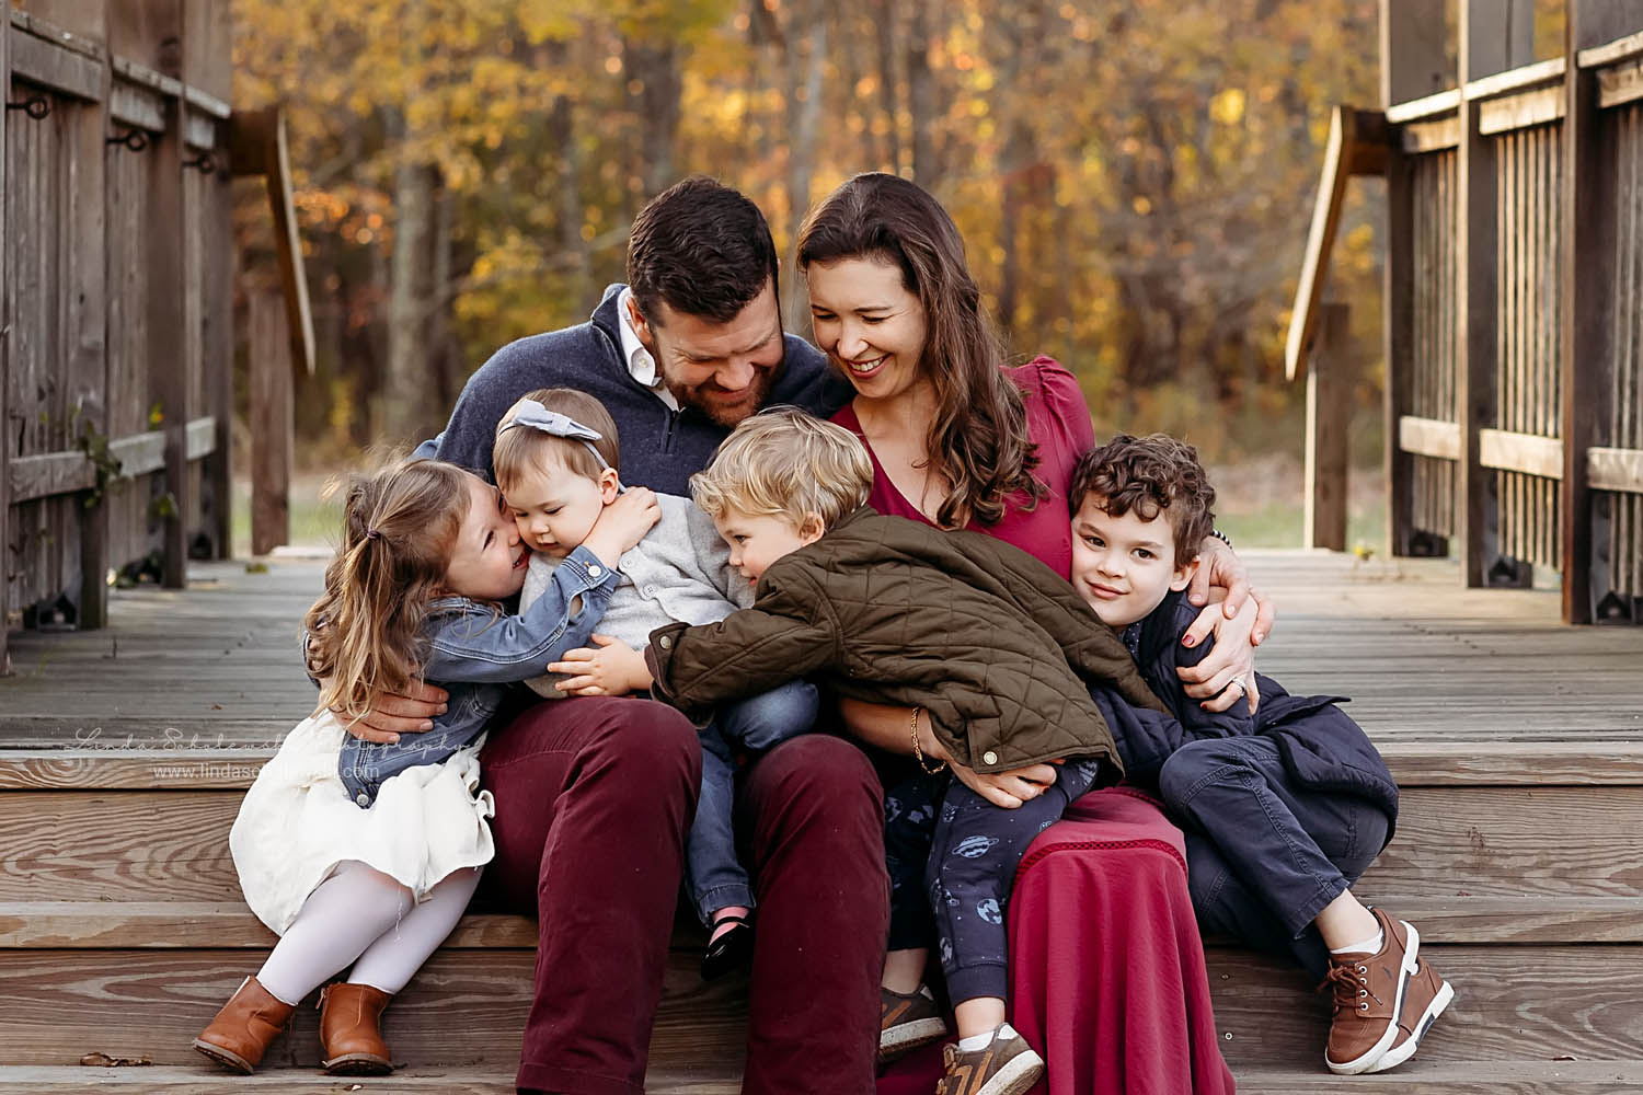
[[[1314,975],[1329,949],[1313,919],[1387,842],[1375,803],[1296,785],[1272,737],[1217,737],[1176,750],[1158,791],[1186,831],[1186,880],[1204,932],[1290,954]]]

